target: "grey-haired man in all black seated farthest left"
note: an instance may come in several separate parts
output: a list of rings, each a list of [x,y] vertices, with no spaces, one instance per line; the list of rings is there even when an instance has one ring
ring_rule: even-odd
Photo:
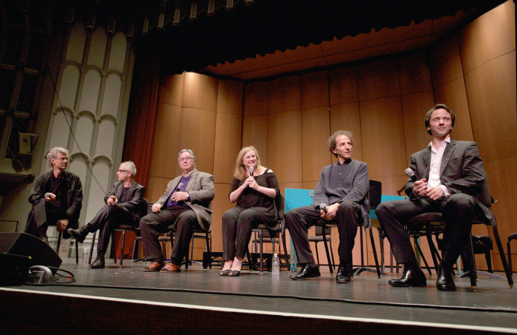
[[[41,173],[29,195],[33,208],[27,217],[25,232],[49,244],[47,228],[56,225],[58,231],[77,227],[83,201],[83,186],[76,174],[65,171],[68,167],[68,150],[50,149],[47,162],[51,171]],[[63,235],[69,238],[68,234]]]

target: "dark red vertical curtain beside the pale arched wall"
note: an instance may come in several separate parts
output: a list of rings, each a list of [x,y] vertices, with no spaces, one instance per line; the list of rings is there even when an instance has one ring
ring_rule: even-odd
[[[153,48],[135,51],[122,161],[134,162],[135,181],[144,186],[153,139],[159,72],[159,59]]]

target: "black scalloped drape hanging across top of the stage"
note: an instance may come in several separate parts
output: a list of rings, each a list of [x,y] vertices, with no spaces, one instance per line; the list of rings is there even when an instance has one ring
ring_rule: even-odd
[[[183,1],[185,2],[185,0]],[[238,3],[230,11],[211,17],[201,14],[193,22],[180,21],[140,36],[137,47],[160,54],[162,71],[168,74],[198,70],[217,63],[234,62],[277,50],[319,44],[334,37],[356,36],[381,28],[407,26],[412,21],[453,16],[458,11],[482,14],[502,3],[497,1],[377,2],[366,1],[272,1]]]

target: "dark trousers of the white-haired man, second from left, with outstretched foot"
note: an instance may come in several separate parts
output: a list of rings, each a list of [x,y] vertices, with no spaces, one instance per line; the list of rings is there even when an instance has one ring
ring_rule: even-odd
[[[97,254],[105,254],[110,243],[111,233],[121,224],[138,226],[136,215],[120,205],[104,205],[86,225],[89,232],[99,230]]]

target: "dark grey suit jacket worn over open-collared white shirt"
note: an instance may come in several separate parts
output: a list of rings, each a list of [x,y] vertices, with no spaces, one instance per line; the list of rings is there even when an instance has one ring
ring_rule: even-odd
[[[411,155],[410,168],[418,179],[429,179],[430,163],[431,147]],[[466,193],[472,196],[486,218],[492,219],[492,212],[488,208],[490,205],[481,200],[486,174],[476,142],[451,139],[451,142],[447,143],[440,166],[440,182],[447,187],[451,194]],[[413,181],[410,178],[407,179],[404,189],[410,199],[418,198],[413,192]]]

